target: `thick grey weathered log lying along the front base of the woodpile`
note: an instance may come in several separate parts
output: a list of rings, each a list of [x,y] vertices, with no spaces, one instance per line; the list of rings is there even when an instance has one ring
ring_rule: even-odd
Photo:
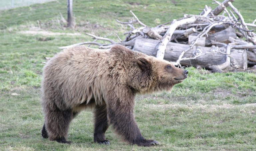
[[[145,53],[147,55],[156,56],[156,48],[159,43],[160,40],[136,38],[133,50]],[[190,46],[187,44],[168,42],[164,59],[175,62],[179,58],[182,51],[188,49],[189,47]],[[183,58],[191,58],[200,54],[203,55],[191,60],[182,60],[180,64],[183,66],[201,66],[208,68],[209,63],[211,65],[220,65],[226,61],[225,50],[219,47],[195,46],[194,48],[189,49],[187,53],[184,54]],[[243,67],[244,65],[247,66],[247,58],[242,58],[244,57],[244,54],[246,54],[245,50],[238,52],[235,49],[231,49],[230,52],[230,56],[234,58],[234,61],[240,67]]]

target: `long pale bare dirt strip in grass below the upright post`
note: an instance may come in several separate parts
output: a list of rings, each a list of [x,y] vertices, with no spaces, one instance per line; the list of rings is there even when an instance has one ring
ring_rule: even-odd
[[[81,36],[80,33],[57,33],[49,31],[21,31],[19,34],[25,35],[43,35],[43,36],[59,36],[59,35],[68,35],[68,36]]]

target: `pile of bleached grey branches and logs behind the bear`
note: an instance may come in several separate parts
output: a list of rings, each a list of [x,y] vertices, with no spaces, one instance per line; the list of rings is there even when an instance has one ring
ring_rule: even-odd
[[[121,22],[131,28],[125,40],[116,42],[106,37],[91,36],[94,41],[87,41],[59,47],[60,49],[82,44],[95,44],[100,49],[108,49],[115,44],[124,45],[134,51],[140,51],[157,58],[171,61],[176,66],[196,66],[223,72],[223,69],[242,69],[256,67],[256,35],[245,23],[243,16],[232,5],[234,0],[222,3],[213,0],[218,7],[205,9],[199,15],[187,15],[178,20],[150,28],[132,13],[135,20]],[[228,11],[226,7],[231,7]],[[222,15],[219,15],[223,12]],[[134,24],[141,27],[135,28]],[[97,40],[106,40],[102,44]]]

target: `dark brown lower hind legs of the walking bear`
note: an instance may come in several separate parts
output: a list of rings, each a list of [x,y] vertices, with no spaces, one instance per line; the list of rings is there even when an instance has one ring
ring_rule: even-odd
[[[69,124],[76,114],[77,113],[73,113],[71,110],[61,111],[57,108],[55,108],[55,110],[46,109],[42,136],[44,137],[47,134],[50,141],[70,144],[71,142],[67,141],[66,137]]]

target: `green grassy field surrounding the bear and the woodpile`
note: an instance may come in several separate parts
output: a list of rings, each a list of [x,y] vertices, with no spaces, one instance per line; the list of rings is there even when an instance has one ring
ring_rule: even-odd
[[[124,38],[126,26],[115,22],[132,18],[129,10],[148,26],[199,14],[211,0],[180,1],[89,1],[73,3],[76,29],[65,27],[66,1],[0,11],[0,150],[256,150],[256,73],[210,73],[186,68],[189,77],[172,93],[136,98],[135,115],[142,134],[160,145],[138,147],[121,142],[111,127],[106,132],[111,145],[93,143],[92,113],[82,112],[72,122],[68,140],[72,145],[41,137],[43,114],[40,83],[45,57],[58,47],[91,40],[84,32]],[[255,16],[254,0],[235,1],[246,22]],[[253,16],[254,15],[254,16]],[[45,34],[25,34],[44,31]],[[55,34],[54,34],[55,33]],[[56,33],[62,33],[59,35]],[[65,35],[67,33],[80,33]],[[13,95],[16,94],[16,95]]]

